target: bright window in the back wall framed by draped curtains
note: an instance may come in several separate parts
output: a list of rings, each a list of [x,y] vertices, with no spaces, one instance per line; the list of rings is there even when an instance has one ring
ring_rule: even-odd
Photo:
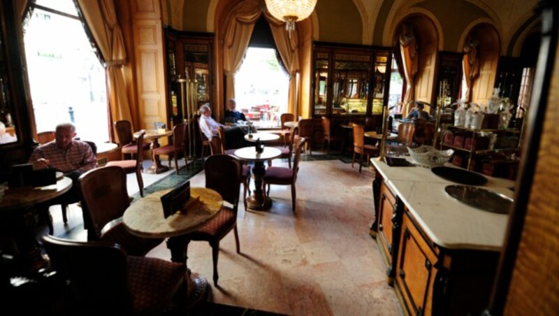
[[[279,116],[287,112],[288,94],[289,76],[276,50],[249,47],[235,73],[237,110],[258,127],[279,127]]]

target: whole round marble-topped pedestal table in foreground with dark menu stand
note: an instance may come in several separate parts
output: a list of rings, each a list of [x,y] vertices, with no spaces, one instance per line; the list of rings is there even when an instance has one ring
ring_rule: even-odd
[[[222,196],[212,189],[204,187],[191,187],[190,200],[184,210],[176,212],[165,218],[161,196],[172,189],[164,189],[147,195],[132,203],[122,216],[124,226],[131,234],[145,238],[167,238],[167,247],[170,250],[171,260],[187,264],[185,249],[186,240],[181,238],[184,234],[194,231],[207,223],[222,210]],[[196,199],[199,198],[198,201]],[[190,270],[189,275],[191,275]],[[195,306],[205,301],[208,296],[208,280],[203,275],[189,278],[187,307]]]

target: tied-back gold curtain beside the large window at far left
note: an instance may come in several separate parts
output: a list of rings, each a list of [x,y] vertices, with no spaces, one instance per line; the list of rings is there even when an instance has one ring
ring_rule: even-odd
[[[115,12],[115,2],[114,0],[78,0],[78,4],[105,59],[112,122],[128,120],[133,124],[124,81],[126,48]]]

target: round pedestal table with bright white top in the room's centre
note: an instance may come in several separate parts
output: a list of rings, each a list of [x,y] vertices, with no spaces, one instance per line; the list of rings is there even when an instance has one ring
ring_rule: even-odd
[[[279,136],[278,136],[279,137]],[[282,151],[277,148],[264,147],[260,154],[256,152],[255,147],[245,147],[235,150],[235,156],[244,161],[254,161],[252,174],[254,175],[254,191],[247,199],[247,208],[252,210],[269,210],[272,207],[272,199],[270,199],[262,188],[262,179],[266,174],[264,161],[276,159],[282,155]]]

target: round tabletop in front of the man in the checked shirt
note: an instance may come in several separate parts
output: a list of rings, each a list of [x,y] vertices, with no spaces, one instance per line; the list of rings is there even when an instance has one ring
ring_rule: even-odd
[[[44,187],[15,187],[6,189],[0,196],[0,211],[17,210],[34,206],[60,196],[72,187],[72,179],[62,177],[54,185]]]

